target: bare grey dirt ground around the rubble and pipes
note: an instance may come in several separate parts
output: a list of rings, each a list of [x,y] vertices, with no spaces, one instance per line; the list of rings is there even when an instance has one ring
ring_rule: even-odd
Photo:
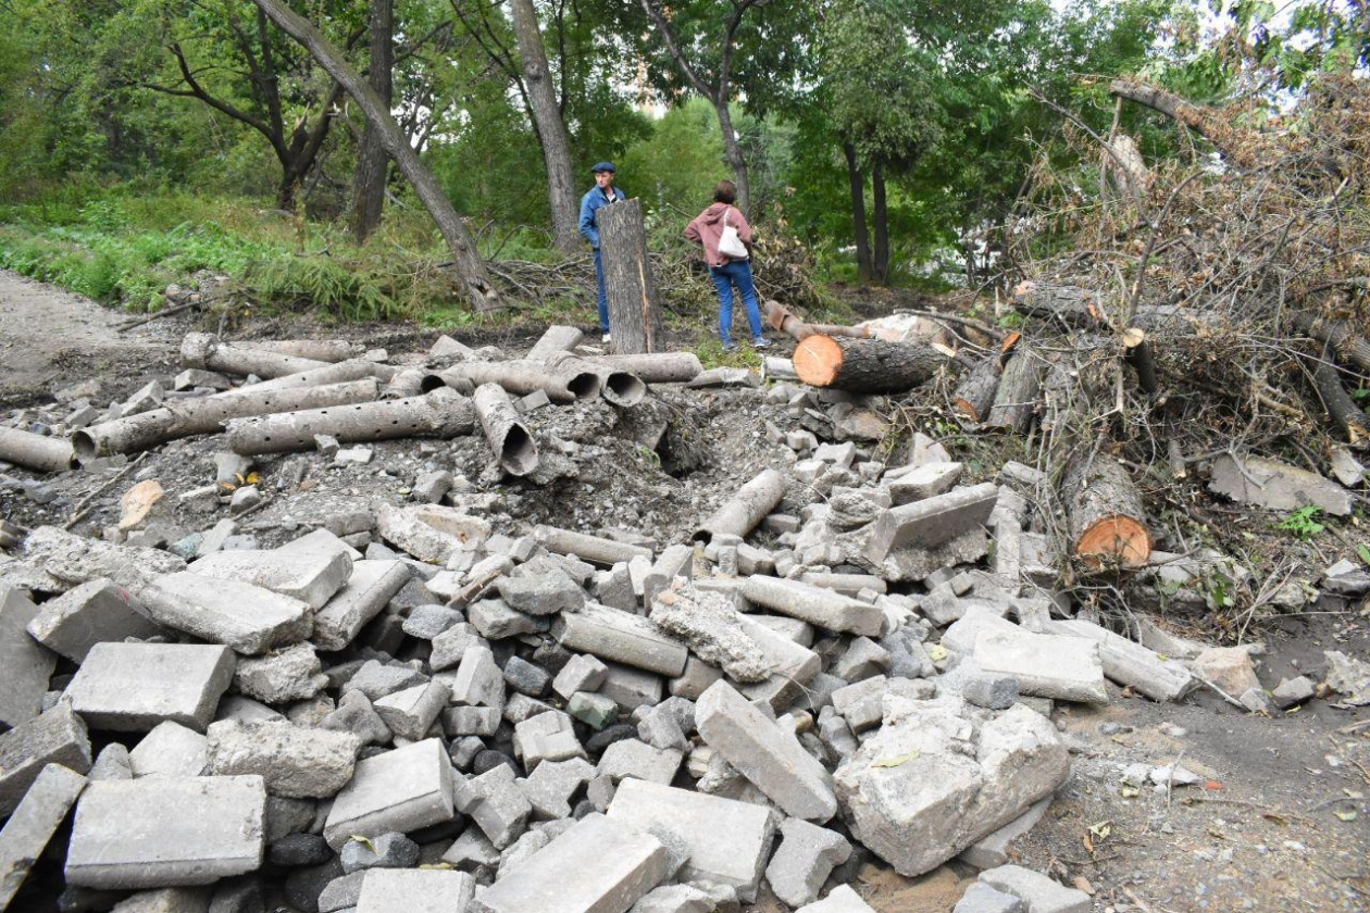
[[[114,326],[123,319],[0,272],[0,412],[51,402],[56,390],[86,379],[100,382],[93,400],[103,405],[153,376],[174,375],[175,349],[190,319],[158,320],[121,334]],[[248,327],[241,335],[347,335],[399,353],[425,350],[437,333],[301,319]],[[511,350],[523,345],[512,335],[462,335],[462,341]],[[634,428],[622,427],[601,404],[544,409],[530,416],[534,433],[569,442],[562,450],[578,471],[543,486],[497,485],[481,442],[466,439],[374,445],[375,460],[364,468],[323,470],[306,454],[267,460],[264,487],[304,489],[321,500],[345,493],[401,502],[418,471],[441,465],[463,474],[473,491],[496,497],[496,526],[552,520],[571,528],[619,527],[663,545],[686,532],[722,491],[770,464],[775,446],[766,439],[766,423],[782,416],[784,405],[756,409],[747,398],[744,409],[740,402],[726,390],[701,400],[664,394],[653,407],[671,427],[664,457],[637,443]],[[169,445],[126,482],[158,478],[169,490],[206,485],[214,478],[214,450],[206,439]],[[663,465],[673,460],[678,464]],[[116,516],[125,486],[101,489],[122,468],[114,460],[40,479],[55,496],[45,504],[0,487],[0,516],[22,526],[62,523],[90,498],[92,512],[75,530],[99,535]],[[38,478],[19,470],[11,475]],[[314,483],[306,487],[299,479]],[[244,524],[245,531],[262,545],[290,538],[297,501],[277,496]],[[200,528],[195,517],[185,523],[188,531]],[[1300,673],[1317,679],[1328,649],[1362,660],[1370,656],[1370,608],[1363,600],[1325,598],[1311,612],[1277,621],[1259,632],[1267,645],[1258,669],[1266,687]],[[1367,910],[1370,710],[1333,701],[1315,699],[1273,719],[1234,709],[1211,693],[1178,705],[1118,691],[1103,708],[1060,705],[1054,720],[1073,742],[1073,773],[1012,854],[1022,865],[1092,892],[1096,912]],[[1137,791],[1125,786],[1122,771],[1138,762],[1178,764],[1201,779],[1196,786]],[[910,880],[875,857],[854,868],[854,887],[881,912],[951,910],[975,875],[952,862]],[[755,909],[785,910],[766,897]]]

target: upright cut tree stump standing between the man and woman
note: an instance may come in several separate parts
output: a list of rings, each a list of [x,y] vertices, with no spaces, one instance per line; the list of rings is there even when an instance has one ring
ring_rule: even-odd
[[[599,211],[600,257],[614,352],[643,355],[662,346],[662,312],[647,255],[643,203],[626,200]]]

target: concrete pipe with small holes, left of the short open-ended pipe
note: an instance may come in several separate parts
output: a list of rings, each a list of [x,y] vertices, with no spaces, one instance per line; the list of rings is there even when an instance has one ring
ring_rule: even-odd
[[[314,449],[314,435],[344,443],[392,438],[451,438],[475,428],[471,400],[440,387],[429,394],[384,402],[358,402],[303,412],[282,412],[227,424],[229,449],[242,456]]]

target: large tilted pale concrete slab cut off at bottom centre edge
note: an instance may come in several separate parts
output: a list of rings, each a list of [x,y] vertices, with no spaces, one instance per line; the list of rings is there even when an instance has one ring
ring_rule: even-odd
[[[656,838],[603,814],[577,821],[467,905],[469,913],[625,913],[667,871]]]

